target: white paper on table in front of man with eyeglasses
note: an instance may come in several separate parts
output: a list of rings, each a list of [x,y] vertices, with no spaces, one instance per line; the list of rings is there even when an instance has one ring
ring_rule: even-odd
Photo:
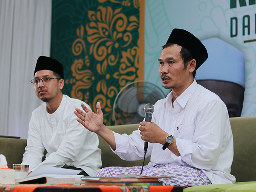
[[[74,169],[64,169],[64,168],[57,168],[57,167],[49,167],[49,166],[45,166],[45,165],[39,165],[26,178],[38,176],[38,175],[41,175],[41,174],[77,175],[80,172],[82,172],[82,171],[81,170],[74,170]]]

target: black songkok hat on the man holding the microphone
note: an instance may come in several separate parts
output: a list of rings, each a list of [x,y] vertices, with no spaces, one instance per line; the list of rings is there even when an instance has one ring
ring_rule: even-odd
[[[203,43],[184,29],[173,29],[166,44],[167,43],[175,43],[189,50],[196,60],[196,69],[208,58],[207,50]]]

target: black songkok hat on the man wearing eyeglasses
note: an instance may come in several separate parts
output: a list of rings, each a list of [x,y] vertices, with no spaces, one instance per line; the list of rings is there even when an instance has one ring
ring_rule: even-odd
[[[56,59],[50,58],[50,57],[45,57],[45,56],[40,56],[37,59],[37,65],[35,65],[35,71],[34,71],[34,76],[35,73],[40,71],[40,70],[51,70],[55,73],[58,73],[61,78],[64,79],[64,70],[63,66],[59,61]]]

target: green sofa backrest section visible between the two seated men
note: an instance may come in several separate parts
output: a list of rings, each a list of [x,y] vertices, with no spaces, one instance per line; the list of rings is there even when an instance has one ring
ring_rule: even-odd
[[[128,124],[128,125],[117,125],[117,126],[108,126],[108,128],[119,134],[132,134],[132,131],[137,130],[139,124]],[[122,160],[118,155],[114,154],[108,143],[106,143],[101,137],[99,137],[99,148],[101,149],[101,160],[102,167],[109,166],[142,166],[143,160],[139,161],[125,161]],[[144,165],[147,165],[150,162],[150,157],[147,157]]]

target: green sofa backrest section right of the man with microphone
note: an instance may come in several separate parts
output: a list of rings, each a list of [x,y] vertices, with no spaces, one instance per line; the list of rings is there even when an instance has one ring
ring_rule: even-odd
[[[234,139],[231,174],[236,182],[256,181],[256,116],[229,120]]]

